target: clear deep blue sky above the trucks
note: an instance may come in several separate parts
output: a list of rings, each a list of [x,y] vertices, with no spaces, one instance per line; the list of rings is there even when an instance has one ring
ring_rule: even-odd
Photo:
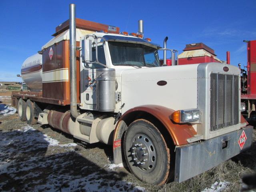
[[[230,51],[236,66],[246,65],[243,40],[256,40],[256,0],[0,0],[0,81],[20,80],[20,66],[68,19],[70,3],[76,4],[78,18],[118,26],[120,31],[137,32],[142,19],[145,37],[162,46],[168,36],[167,47],[179,52],[195,42],[213,48],[220,60]]]

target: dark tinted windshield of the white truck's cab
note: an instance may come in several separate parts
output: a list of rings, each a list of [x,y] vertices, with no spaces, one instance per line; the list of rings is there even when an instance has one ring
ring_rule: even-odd
[[[159,57],[155,48],[142,44],[108,42],[113,65],[158,67]]]

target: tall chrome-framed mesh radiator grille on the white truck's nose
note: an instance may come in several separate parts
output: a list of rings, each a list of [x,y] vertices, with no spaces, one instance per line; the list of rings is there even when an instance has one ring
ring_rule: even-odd
[[[211,131],[238,124],[238,75],[212,73],[210,78]]]

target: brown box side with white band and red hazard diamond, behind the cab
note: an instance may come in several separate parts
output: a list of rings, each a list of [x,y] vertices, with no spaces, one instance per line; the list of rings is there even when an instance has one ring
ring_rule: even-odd
[[[79,46],[80,42],[76,42]],[[52,58],[49,57],[49,51],[52,48]],[[69,40],[63,40],[54,44],[45,50],[42,55],[42,90],[43,97],[64,100],[70,102],[70,82],[69,77]],[[76,86],[77,102],[80,103],[80,54],[76,51]]]

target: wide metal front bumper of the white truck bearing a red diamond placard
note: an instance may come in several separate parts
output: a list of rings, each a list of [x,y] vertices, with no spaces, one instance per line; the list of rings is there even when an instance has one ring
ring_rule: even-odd
[[[178,146],[176,148],[174,180],[176,182],[185,181],[250,148],[252,130],[252,126],[246,126],[203,142]],[[246,140],[245,138],[241,139],[243,131]]]

